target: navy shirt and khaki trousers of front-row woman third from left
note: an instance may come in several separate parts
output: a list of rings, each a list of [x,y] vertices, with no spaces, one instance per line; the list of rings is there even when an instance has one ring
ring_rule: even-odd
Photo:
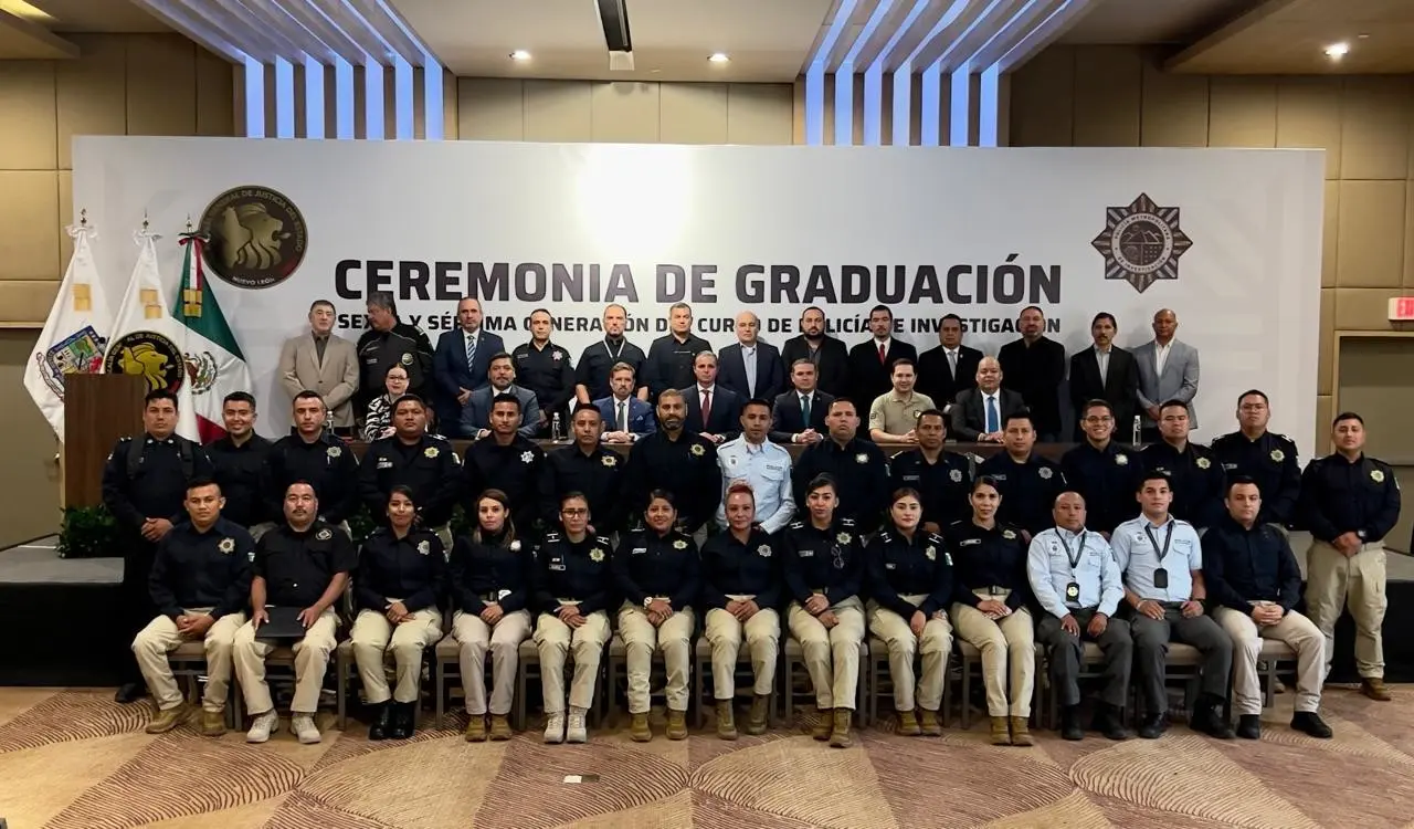
[[[363,680],[363,699],[369,705],[393,699],[411,706],[419,700],[423,649],[436,645],[443,635],[438,604],[445,591],[447,555],[437,533],[413,528],[397,538],[390,528],[379,528],[363,540],[354,579],[358,615],[349,639]],[[403,603],[411,614],[396,625],[387,621],[387,608],[395,601]],[[393,651],[397,678],[397,688],[392,692],[383,668],[389,649]],[[413,719],[406,717],[409,727]]]

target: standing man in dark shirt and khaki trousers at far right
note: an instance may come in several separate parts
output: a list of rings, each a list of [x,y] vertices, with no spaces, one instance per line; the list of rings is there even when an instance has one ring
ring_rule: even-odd
[[[1301,516],[1311,531],[1307,610],[1326,638],[1326,673],[1335,656],[1335,622],[1355,620],[1360,693],[1387,702],[1384,688],[1384,536],[1400,521],[1400,482],[1384,461],[1365,454],[1365,420],[1355,412],[1331,424],[1335,454],[1301,475]]]

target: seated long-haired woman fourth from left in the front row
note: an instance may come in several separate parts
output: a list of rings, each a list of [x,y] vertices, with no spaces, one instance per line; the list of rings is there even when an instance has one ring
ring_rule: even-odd
[[[461,645],[467,693],[467,740],[486,738],[486,648],[491,649],[491,738],[509,740],[520,642],[530,637],[530,577],[534,556],[516,538],[510,499],[501,489],[477,497],[477,528],[451,547],[451,634]]]

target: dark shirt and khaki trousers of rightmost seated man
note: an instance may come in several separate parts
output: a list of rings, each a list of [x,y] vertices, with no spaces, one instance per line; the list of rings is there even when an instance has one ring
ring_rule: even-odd
[[[1319,709],[1326,638],[1292,610],[1301,601],[1301,567],[1287,538],[1260,519],[1249,529],[1223,516],[1203,533],[1203,581],[1213,618],[1233,641],[1233,713],[1261,714],[1257,656],[1263,639],[1285,642],[1297,652],[1295,710]],[[1281,621],[1258,627],[1251,618],[1258,603],[1281,605]]]

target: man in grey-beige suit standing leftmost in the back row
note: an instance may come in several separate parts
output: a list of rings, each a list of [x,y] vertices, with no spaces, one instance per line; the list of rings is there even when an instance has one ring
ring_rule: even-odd
[[[329,426],[339,436],[354,434],[354,392],[358,390],[358,352],[334,334],[334,303],[314,300],[310,331],[284,341],[277,376],[293,399],[308,389],[328,406]]]

